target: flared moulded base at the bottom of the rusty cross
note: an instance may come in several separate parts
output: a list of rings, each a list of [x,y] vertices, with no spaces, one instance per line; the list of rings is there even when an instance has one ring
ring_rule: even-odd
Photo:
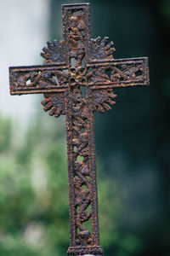
[[[67,256],[82,256],[82,255],[95,255],[95,256],[105,256],[102,247],[69,247],[67,251]]]

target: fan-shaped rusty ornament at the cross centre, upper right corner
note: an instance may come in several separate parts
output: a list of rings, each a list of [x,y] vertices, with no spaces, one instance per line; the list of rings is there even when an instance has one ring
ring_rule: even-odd
[[[114,43],[108,41],[107,37],[91,39],[90,55],[92,60],[113,60],[116,49],[113,47]]]

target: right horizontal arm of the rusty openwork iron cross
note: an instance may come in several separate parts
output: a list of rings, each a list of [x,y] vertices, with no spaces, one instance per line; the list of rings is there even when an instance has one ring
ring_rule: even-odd
[[[149,85],[148,58],[94,61],[88,64],[88,85],[92,89]]]

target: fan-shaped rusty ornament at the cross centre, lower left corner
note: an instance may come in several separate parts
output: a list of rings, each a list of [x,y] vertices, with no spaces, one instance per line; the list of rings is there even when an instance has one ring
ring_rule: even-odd
[[[49,115],[54,115],[56,118],[65,114],[65,93],[45,94],[42,105],[45,111],[49,110]]]

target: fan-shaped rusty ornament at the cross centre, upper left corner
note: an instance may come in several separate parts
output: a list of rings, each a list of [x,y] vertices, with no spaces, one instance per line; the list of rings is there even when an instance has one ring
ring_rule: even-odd
[[[44,63],[61,63],[65,62],[63,41],[47,42],[48,47],[44,47],[41,56],[45,59]]]

